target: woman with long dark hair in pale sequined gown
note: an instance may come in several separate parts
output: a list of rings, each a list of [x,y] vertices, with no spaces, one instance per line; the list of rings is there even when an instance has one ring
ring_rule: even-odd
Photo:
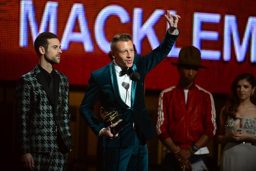
[[[255,86],[255,77],[248,73],[237,76],[231,85],[216,136],[218,143],[226,144],[221,171],[256,171]]]

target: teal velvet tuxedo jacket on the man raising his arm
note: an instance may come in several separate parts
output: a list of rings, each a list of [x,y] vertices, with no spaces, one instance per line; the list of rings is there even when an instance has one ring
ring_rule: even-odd
[[[163,41],[152,52],[142,57],[135,54],[132,69],[134,72],[140,74],[143,83],[146,74],[169,54],[177,37],[178,35],[171,35],[167,31]],[[132,81],[131,107],[129,107],[119,95],[117,76],[113,61],[91,73],[88,81],[88,88],[79,108],[80,114],[86,119],[89,127],[97,136],[99,136],[99,131],[108,126],[108,123],[105,123],[104,121],[101,123],[93,113],[94,106],[98,100],[106,111],[117,111],[120,119],[131,123],[119,132],[117,138],[108,140],[103,137],[103,146],[105,148],[123,148],[131,145],[133,142],[132,123],[134,122],[136,125],[139,123],[141,96],[143,100],[141,122],[142,142],[146,142],[146,140],[150,140],[154,137],[154,130],[145,107],[144,91],[141,91],[141,86],[141,84]]]

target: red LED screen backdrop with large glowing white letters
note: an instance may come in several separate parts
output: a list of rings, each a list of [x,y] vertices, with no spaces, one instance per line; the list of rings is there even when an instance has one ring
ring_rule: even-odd
[[[111,62],[109,42],[118,33],[133,37],[137,52],[149,53],[167,29],[166,10],[181,16],[180,36],[170,54],[146,77],[146,88],[162,90],[178,82],[176,62],[181,47],[201,50],[196,83],[213,93],[228,93],[236,75],[256,71],[256,3],[254,0],[119,0],[0,3],[0,80],[17,80],[32,70],[38,57],[36,36],[55,33],[62,56],[55,68],[71,85],[86,86],[90,73]]]

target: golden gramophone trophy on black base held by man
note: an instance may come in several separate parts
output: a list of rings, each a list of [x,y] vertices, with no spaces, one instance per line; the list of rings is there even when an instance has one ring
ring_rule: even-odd
[[[102,107],[100,108],[100,116],[105,122],[109,122],[110,125],[114,124],[114,127],[111,129],[114,135],[130,124],[125,120],[119,119],[116,111],[106,112]]]

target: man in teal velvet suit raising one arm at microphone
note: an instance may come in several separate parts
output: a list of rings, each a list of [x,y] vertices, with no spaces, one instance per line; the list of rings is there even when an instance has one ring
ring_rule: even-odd
[[[154,131],[146,111],[142,85],[132,81],[129,74],[137,72],[144,82],[146,74],[161,62],[170,52],[178,37],[178,15],[165,15],[169,22],[162,43],[149,54],[141,57],[134,54],[134,47],[129,34],[118,34],[112,39],[111,54],[114,60],[108,65],[91,73],[79,112],[85,117],[89,127],[99,137],[103,136],[104,170],[148,171],[148,151],[146,140],[153,138]],[[142,103],[141,103],[142,99]],[[117,111],[119,118],[130,124],[114,135],[113,125],[99,122],[93,113],[97,101],[106,111]],[[142,122],[139,128],[142,104]],[[138,135],[141,131],[141,141]],[[138,169],[138,148],[140,158]]]

